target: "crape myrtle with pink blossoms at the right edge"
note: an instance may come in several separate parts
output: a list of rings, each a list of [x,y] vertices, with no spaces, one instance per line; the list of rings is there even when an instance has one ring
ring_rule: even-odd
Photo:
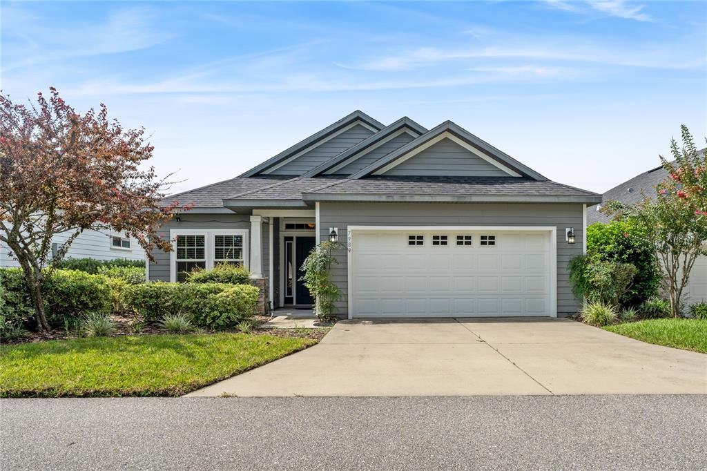
[[[674,162],[660,159],[669,178],[633,206],[609,202],[602,211],[641,226],[641,237],[653,250],[662,287],[670,298],[672,315],[682,312],[684,289],[697,258],[707,255],[705,155],[696,150],[689,130],[682,126],[683,146],[671,142]]]

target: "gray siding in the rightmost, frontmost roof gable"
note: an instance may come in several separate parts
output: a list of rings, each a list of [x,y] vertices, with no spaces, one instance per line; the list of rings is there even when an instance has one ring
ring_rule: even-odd
[[[385,175],[507,177],[508,173],[451,139],[443,139],[391,168]]]

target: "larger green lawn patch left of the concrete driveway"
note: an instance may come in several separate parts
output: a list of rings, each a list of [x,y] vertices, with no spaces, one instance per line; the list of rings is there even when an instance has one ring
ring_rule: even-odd
[[[145,335],[0,347],[0,397],[179,396],[317,343],[270,335]]]

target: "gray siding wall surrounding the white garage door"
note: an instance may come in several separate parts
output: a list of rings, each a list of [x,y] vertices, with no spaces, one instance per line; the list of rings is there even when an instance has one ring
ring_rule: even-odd
[[[413,203],[320,203],[322,240],[327,228],[338,227],[341,243],[346,244],[346,228],[356,226],[556,226],[557,227],[557,312],[575,313],[580,302],[569,284],[567,264],[582,253],[581,204],[413,204]],[[565,242],[565,228],[575,228],[577,243]],[[337,314],[347,314],[346,251],[337,254],[339,264],[332,267],[332,277],[344,298]]]

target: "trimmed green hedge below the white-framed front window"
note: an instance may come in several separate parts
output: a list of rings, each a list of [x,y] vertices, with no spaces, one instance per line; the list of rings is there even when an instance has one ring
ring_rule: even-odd
[[[259,289],[247,284],[165,283],[129,286],[124,303],[146,322],[170,314],[187,314],[195,325],[211,329],[235,327],[257,309]]]

